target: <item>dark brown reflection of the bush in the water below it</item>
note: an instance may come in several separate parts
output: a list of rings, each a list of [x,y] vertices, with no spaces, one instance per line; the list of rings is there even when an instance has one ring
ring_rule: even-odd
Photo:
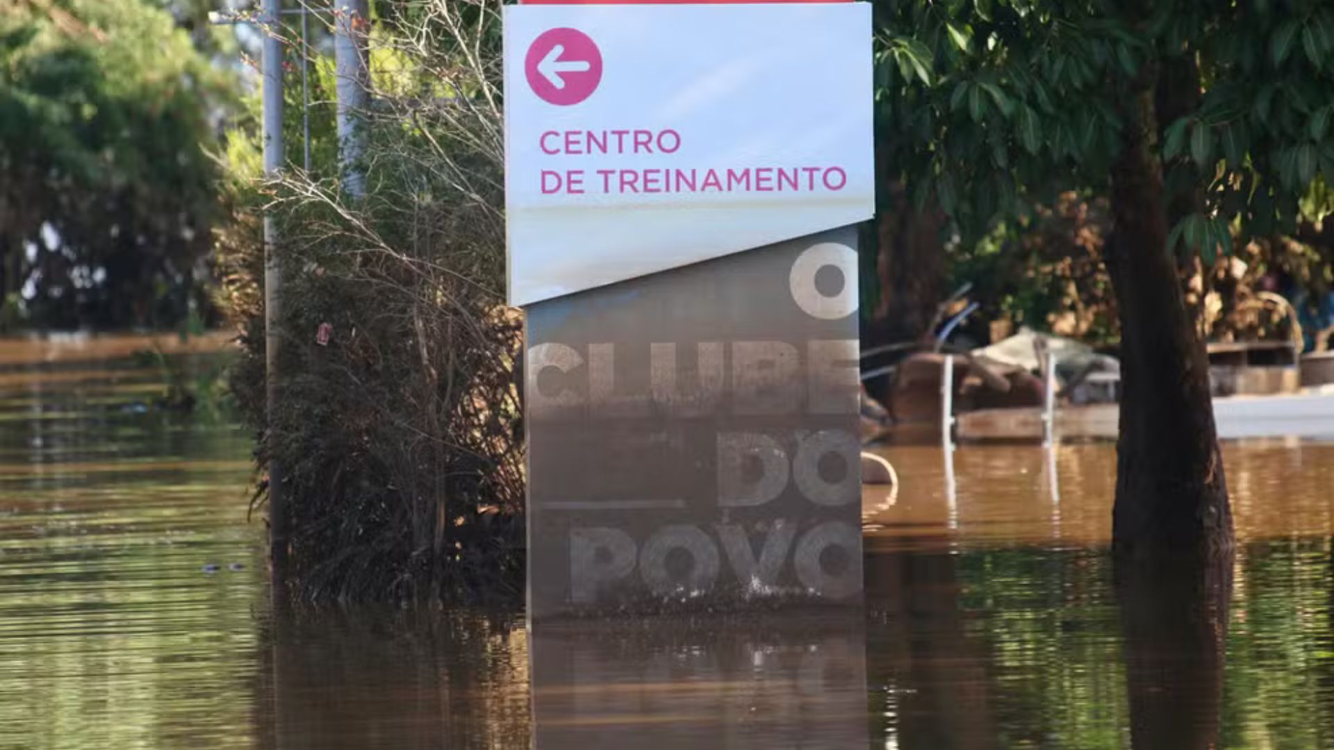
[[[259,747],[527,747],[522,617],[277,610],[263,623]]]

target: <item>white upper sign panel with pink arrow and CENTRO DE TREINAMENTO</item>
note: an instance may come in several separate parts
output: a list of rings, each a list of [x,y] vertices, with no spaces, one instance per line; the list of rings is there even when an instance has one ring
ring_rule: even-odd
[[[870,219],[871,7],[507,5],[510,303]]]

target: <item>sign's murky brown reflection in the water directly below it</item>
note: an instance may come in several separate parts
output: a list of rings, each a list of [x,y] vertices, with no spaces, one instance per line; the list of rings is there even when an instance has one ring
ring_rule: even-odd
[[[539,623],[536,747],[864,747],[860,610]]]

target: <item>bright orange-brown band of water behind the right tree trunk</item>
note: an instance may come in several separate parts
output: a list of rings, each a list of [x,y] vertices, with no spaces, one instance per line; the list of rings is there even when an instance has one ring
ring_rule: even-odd
[[[903,487],[890,507],[864,503],[870,550],[936,540],[959,548],[1101,547],[1111,540],[1117,452],[1110,444],[1065,444],[1050,452],[1037,446],[964,446],[944,460],[934,446],[879,452]],[[1334,535],[1334,444],[1225,443],[1223,456],[1238,539]]]

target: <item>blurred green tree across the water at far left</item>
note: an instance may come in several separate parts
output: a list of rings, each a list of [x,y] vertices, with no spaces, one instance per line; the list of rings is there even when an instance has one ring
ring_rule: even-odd
[[[11,320],[175,322],[203,304],[204,151],[221,73],[141,0],[12,0],[0,19],[0,258]]]

